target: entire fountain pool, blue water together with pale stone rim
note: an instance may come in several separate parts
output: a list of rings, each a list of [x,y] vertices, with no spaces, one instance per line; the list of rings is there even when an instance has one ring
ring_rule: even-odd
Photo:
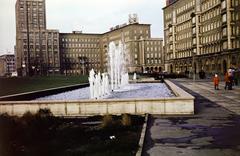
[[[98,100],[89,99],[89,90],[86,87],[33,101],[3,101],[0,102],[0,113],[22,116],[26,112],[36,113],[47,108],[53,115],[65,117],[125,113],[194,114],[194,97],[169,80],[165,80],[165,84],[130,84]]]

